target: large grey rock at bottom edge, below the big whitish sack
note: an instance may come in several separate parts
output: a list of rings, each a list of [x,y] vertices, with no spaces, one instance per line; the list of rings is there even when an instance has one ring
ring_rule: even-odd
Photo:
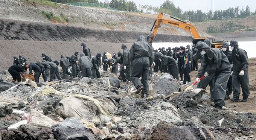
[[[90,130],[75,117],[67,118],[52,126],[53,136],[57,140],[95,140]]]

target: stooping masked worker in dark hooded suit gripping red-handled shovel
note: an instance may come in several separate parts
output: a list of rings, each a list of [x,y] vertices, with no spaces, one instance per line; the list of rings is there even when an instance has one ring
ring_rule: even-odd
[[[207,39],[209,40],[209,39]],[[222,106],[225,105],[224,98],[226,95],[226,86],[230,75],[230,63],[227,56],[219,49],[210,48],[206,43],[199,41],[196,45],[198,49],[197,55],[199,57],[193,57],[196,61],[202,57],[205,57],[200,70],[198,71],[196,81],[200,81],[201,76],[214,76],[213,79],[213,102],[215,108],[222,110]],[[197,58],[197,59],[196,59]]]

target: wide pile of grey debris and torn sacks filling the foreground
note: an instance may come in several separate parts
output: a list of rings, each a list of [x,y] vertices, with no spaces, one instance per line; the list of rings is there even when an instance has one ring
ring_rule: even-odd
[[[0,74],[2,138],[197,140],[253,137],[256,116],[216,110],[203,89],[184,90],[171,75],[153,74],[150,96],[105,73],[33,87]],[[183,90],[181,90],[183,89]],[[180,91],[179,91],[180,90]]]

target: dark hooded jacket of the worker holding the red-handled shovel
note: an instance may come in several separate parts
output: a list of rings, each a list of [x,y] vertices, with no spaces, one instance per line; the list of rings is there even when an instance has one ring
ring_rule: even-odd
[[[217,75],[218,73],[230,69],[229,59],[220,49],[210,48],[206,43],[199,41],[196,45],[197,49],[203,49],[206,51],[204,55],[205,60],[201,60],[201,73],[207,72],[209,75]],[[198,72],[197,77],[200,78],[203,76],[199,75]]]

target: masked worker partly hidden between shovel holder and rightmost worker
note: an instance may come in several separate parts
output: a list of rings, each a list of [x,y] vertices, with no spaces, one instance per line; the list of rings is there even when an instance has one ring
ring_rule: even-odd
[[[224,42],[222,44],[222,52],[227,56],[227,59],[229,59],[229,63],[231,64],[231,71],[233,71],[233,65],[232,65],[232,51],[229,50],[229,43]],[[227,82],[227,88],[226,88],[226,96],[225,100],[230,99],[230,95],[232,94],[232,76],[229,76],[229,81]]]

